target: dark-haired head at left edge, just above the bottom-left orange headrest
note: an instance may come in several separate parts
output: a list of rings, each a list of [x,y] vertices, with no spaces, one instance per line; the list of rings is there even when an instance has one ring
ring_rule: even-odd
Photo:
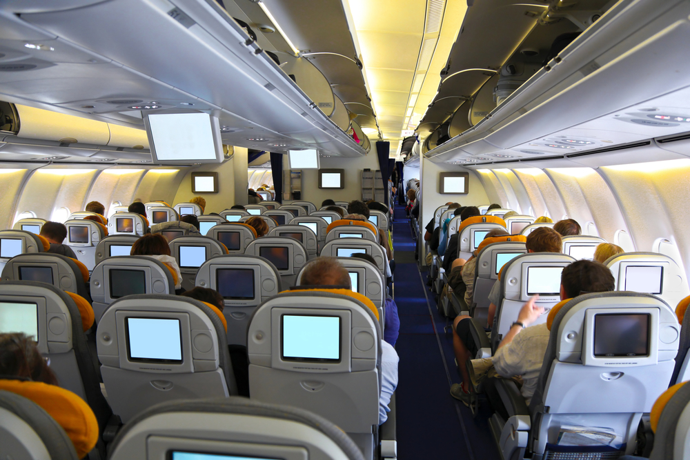
[[[57,385],[57,377],[41,356],[37,343],[21,332],[0,334],[0,375]]]

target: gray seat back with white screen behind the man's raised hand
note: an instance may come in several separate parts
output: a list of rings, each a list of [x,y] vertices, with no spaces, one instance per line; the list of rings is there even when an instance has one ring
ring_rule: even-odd
[[[491,330],[491,348],[495,350],[517,321],[522,305],[539,294],[537,305],[544,308],[534,324],[546,322],[546,315],[560,302],[560,277],[563,268],[575,259],[556,252],[531,252],[515,257],[500,273],[500,298]]]

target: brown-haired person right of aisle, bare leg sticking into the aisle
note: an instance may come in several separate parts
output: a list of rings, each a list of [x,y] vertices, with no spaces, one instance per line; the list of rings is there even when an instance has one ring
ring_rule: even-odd
[[[525,247],[527,252],[561,252],[563,243],[560,234],[553,230],[553,228],[539,227],[527,236]],[[497,309],[496,304],[499,302],[500,298],[500,288],[501,282],[497,280],[493,284],[493,288],[491,288],[491,293],[489,294],[491,304],[489,305],[489,317],[486,320],[487,328],[493,326],[493,317]],[[470,380],[465,361],[475,356],[478,351],[472,339],[470,321],[476,320],[464,314],[456,317],[455,321],[453,321],[453,350],[455,351],[457,366],[460,368],[460,373],[462,374],[462,384],[453,386],[455,390],[451,388],[451,394],[455,399],[460,399],[460,401],[466,405],[469,404],[470,393],[467,385]]]

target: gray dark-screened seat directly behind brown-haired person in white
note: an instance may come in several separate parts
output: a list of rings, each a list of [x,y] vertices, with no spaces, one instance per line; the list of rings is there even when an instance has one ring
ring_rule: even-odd
[[[110,303],[132,294],[175,294],[172,267],[146,256],[108,257],[91,272],[91,299],[98,323]]]

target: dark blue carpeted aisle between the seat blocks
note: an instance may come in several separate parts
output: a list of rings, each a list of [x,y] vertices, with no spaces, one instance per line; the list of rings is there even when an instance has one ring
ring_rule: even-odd
[[[415,242],[403,207],[395,208],[395,303],[400,314],[400,355],[397,394],[398,458],[498,459],[484,409],[471,412],[449,394],[457,383],[453,338],[444,334],[446,321],[436,311],[426,287],[426,273],[417,269]],[[471,442],[469,442],[471,439]]]

